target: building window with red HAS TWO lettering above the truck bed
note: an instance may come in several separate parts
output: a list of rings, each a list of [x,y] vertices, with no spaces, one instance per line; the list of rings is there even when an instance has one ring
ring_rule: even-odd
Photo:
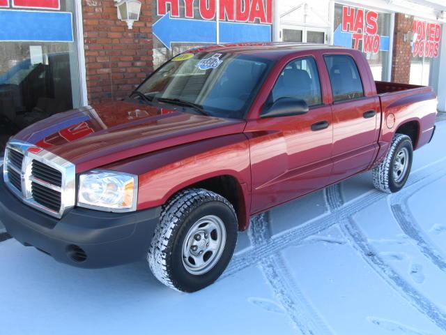
[[[390,19],[390,13],[334,5],[333,44],[364,52],[374,80],[387,80],[390,75]]]

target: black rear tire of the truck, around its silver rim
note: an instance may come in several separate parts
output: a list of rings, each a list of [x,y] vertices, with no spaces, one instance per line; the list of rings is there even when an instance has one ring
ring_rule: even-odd
[[[394,177],[395,162],[397,156],[402,151],[406,151],[408,154],[407,168],[404,170],[403,175],[397,179]],[[413,146],[410,137],[403,134],[396,134],[390,144],[390,149],[385,156],[385,159],[380,165],[372,170],[374,178],[374,186],[385,193],[395,193],[403,188],[404,184],[410,174],[410,168],[412,168],[413,160]]]

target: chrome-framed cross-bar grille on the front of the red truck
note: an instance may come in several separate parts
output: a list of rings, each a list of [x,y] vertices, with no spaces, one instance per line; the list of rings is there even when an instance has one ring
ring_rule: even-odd
[[[26,204],[60,218],[75,204],[75,165],[32,144],[8,143],[3,178]]]

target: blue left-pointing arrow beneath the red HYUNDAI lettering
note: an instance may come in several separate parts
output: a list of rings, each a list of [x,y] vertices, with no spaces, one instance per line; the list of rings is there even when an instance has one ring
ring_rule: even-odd
[[[220,43],[270,42],[269,24],[219,22]],[[153,34],[168,49],[171,43],[215,43],[217,22],[171,17],[170,12],[153,24]]]

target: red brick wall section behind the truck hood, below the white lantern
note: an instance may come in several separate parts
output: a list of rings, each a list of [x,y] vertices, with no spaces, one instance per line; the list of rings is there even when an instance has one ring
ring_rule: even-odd
[[[82,0],[89,103],[127,96],[153,70],[152,1],[133,29],[118,20],[113,0]]]

